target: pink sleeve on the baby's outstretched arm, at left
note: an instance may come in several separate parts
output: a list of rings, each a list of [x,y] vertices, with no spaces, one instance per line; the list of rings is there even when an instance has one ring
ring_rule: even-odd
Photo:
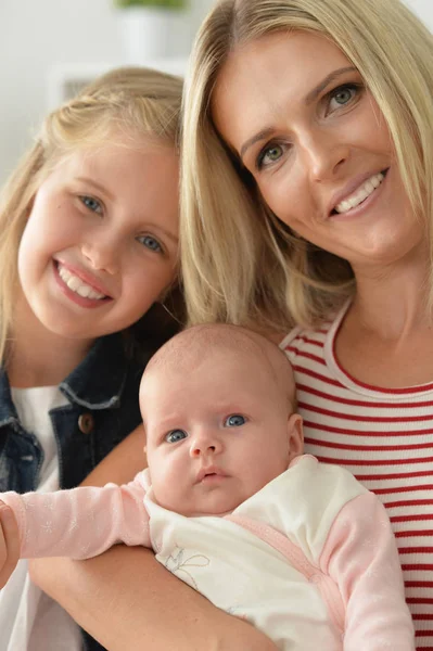
[[[140,474],[124,486],[0,495],[18,523],[21,558],[87,559],[116,542],[151,547]]]

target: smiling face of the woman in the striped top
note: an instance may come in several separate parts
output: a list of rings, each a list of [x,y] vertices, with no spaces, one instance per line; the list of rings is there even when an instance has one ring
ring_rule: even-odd
[[[357,69],[310,33],[234,50],[213,97],[216,127],[272,212],[355,272],[420,246],[385,120]]]

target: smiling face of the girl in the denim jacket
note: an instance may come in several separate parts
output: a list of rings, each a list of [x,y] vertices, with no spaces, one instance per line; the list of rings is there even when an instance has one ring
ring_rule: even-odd
[[[110,143],[61,161],[18,248],[24,297],[47,330],[92,341],[136,322],[176,276],[178,157]]]

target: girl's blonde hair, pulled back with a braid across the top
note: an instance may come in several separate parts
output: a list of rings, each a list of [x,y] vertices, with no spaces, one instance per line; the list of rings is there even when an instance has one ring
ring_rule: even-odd
[[[181,93],[178,77],[140,67],[116,68],[44,119],[0,197],[0,360],[13,335],[20,241],[41,183],[64,156],[100,146],[113,132],[117,143],[120,132],[125,146],[137,146],[139,137],[177,146]]]

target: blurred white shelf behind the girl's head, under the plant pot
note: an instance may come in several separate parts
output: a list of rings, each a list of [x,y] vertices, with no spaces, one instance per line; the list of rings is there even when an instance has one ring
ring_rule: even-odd
[[[53,111],[63,102],[73,98],[87,84],[107,73],[109,71],[126,65],[123,63],[91,63],[75,64],[62,63],[53,65],[47,78],[48,110]],[[144,64],[143,64],[144,65]],[[187,72],[188,59],[156,59],[145,63],[145,67],[155,68],[163,73],[183,77]]]

